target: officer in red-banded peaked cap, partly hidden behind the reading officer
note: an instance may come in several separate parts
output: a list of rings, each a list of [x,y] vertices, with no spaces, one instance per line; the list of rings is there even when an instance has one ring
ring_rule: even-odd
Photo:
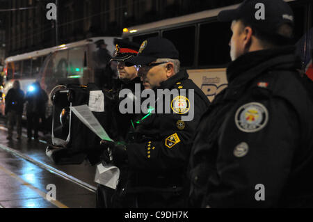
[[[115,39],[114,43],[116,45],[115,54],[111,61],[116,61],[119,79],[122,82],[119,90],[104,90],[105,95],[105,104],[106,104],[106,114],[108,119],[108,124],[110,125],[109,133],[111,138],[114,141],[127,141],[127,136],[129,132],[132,130],[133,122],[136,120],[136,114],[134,111],[131,113],[120,113],[119,105],[122,99],[119,97],[119,94],[122,90],[130,90],[131,98],[127,98],[129,100],[135,100],[135,90],[139,90],[138,93],[141,93],[142,84],[140,77],[137,76],[137,70],[134,65],[126,64],[129,58],[132,58],[138,54],[138,49],[140,45],[135,42],[129,42],[127,40]],[[135,103],[135,101],[131,101],[131,103]],[[95,153],[93,152],[93,155]],[[96,154],[99,158],[99,154]],[[90,158],[90,156],[89,156]],[[97,161],[100,161],[98,159]],[[120,173],[123,174],[124,171],[121,168]],[[97,207],[98,208],[108,208],[112,207],[112,203],[110,197],[113,195],[113,190],[104,187],[102,184],[97,185]]]

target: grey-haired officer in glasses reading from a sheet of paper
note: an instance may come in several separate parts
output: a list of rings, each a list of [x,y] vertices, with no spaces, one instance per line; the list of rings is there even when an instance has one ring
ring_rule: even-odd
[[[209,100],[188,79],[186,71],[179,71],[179,53],[165,38],[148,38],[138,56],[127,62],[138,65],[138,75],[148,89],[145,93],[155,95],[163,90],[164,97],[170,97],[170,92],[177,90],[179,95],[163,104],[159,102],[164,97],[155,97],[157,105],[148,105],[148,110],[136,121],[134,141],[126,145],[102,141],[112,150],[113,164],[127,167],[127,174],[120,177],[113,206],[184,207],[191,144]],[[170,113],[160,111],[166,107],[170,107]],[[193,118],[183,120],[192,114],[191,110]],[[104,152],[104,158],[109,160],[108,156]]]

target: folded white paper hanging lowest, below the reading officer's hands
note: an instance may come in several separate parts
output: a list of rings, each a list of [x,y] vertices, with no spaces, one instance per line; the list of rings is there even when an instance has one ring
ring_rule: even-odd
[[[99,164],[95,175],[95,182],[102,184],[111,189],[116,189],[118,178],[120,177],[120,169],[113,165],[104,166]]]

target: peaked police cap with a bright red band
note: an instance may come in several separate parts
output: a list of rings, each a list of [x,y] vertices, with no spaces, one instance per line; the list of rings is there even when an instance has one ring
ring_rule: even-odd
[[[123,39],[114,39],[115,52],[111,61],[127,61],[129,58],[134,57],[138,54],[140,47],[136,42],[130,42]]]

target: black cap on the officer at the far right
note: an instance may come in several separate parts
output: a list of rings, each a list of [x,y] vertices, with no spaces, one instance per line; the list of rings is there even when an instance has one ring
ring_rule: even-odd
[[[282,0],[246,0],[238,8],[218,14],[220,22],[237,19],[264,33],[277,33],[282,24],[294,26],[294,13]]]

